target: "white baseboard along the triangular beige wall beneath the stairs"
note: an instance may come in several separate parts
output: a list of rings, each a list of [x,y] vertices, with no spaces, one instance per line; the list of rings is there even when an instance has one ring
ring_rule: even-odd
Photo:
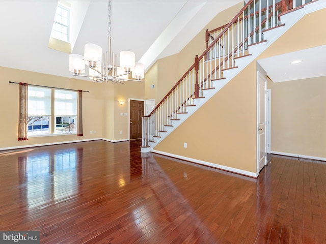
[[[169,156],[169,157],[173,157],[173,158],[177,158],[177,159],[182,159],[182,160],[194,162],[194,163],[201,164],[201,165],[206,165],[206,166],[216,168],[216,169],[222,169],[222,170],[226,170],[226,171],[230,171],[233,173],[242,174],[242,175],[246,175],[246,176],[250,176],[250,177],[254,177],[254,178],[258,177],[258,173],[254,173],[254,172],[250,172],[250,171],[246,171],[246,170],[236,169],[236,168],[232,168],[232,167],[228,167],[228,166],[224,166],[224,165],[220,165],[220,164],[213,164],[213,163],[209,163],[209,162],[198,160],[198,159],[187,158],[187,157],[183,157],[180,155],[166,153],[165,151],[158,151],[158,150],[154,150],[154,149],[151,151],[153,153],[157,153],[157,154],[161,154],[161,155],[165,155],[165,156]]]

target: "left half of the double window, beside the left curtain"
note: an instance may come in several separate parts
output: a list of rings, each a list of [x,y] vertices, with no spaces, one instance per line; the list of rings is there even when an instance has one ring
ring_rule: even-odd
[[[29,86],[28,134],[49,134],[51,121],[51,89]]]

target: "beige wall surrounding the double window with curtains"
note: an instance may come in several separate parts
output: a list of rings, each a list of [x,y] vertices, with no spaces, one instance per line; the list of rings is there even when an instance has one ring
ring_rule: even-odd
[[[0,67],[0,74],[0,111],[2,114],[2,119],[0,120],[0,148],[85,140],[100,138],[102,136],[102,94],[100,89],[102,84],[93,84],[92,82],[84,80],[9,69],[5,67]],[[68,89],[89,90],[89,93],[83,93],[84,136],[53,135],[30,137],[28,141],[18,141],[19,85],[10,84],[9,81]],[[89,131],[96,131],[96,134],[89,134]]]

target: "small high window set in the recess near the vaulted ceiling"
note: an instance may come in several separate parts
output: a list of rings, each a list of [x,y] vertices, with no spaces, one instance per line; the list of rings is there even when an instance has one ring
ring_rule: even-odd
[[[51,37],[69,42],[69,9],[58,4]]]

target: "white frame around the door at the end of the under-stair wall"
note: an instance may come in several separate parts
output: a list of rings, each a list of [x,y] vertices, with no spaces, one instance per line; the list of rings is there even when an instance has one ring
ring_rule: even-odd
[[[264,144],[264,155],[265,155],[265,162],[264,165],[267,165],[267,154],[266,154],[266,90],[267,90],[267,77],[264,77],[264,75],[257,71],[257,78],[256,78],[256,90],[257,90],[257,94],[256,94],[256,167],[257,167],[257,176],[259,175],[259,77],[261,77],[264,82],[265,82],[265,92],[264,92],[264,118],[265,118],[265,128],[264,128],[264,132],[265,132],[265,144]]]

